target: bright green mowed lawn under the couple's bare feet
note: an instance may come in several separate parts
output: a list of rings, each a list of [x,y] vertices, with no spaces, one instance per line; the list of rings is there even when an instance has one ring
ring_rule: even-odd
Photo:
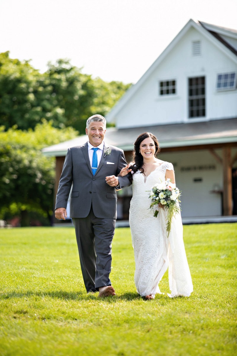
[[[86,294],[74,229],[0,230],[0,355],[234,355],[237,224],[184,226],[189,298],[145,301],[128,228],[116,229],[117,295]]]

